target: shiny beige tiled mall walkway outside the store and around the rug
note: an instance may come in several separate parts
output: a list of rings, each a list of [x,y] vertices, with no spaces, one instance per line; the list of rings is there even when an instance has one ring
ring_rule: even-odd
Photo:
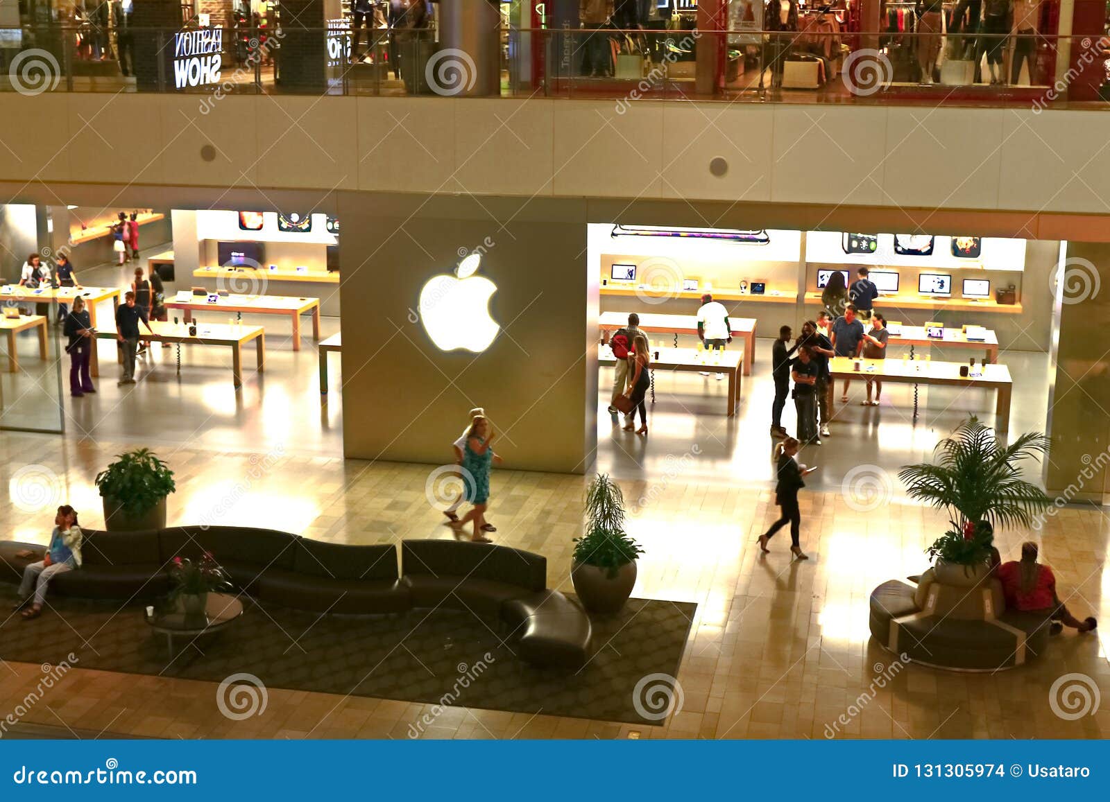
[[[44,542],[50,508],[62,499],[82,511],[87,526],[99,526],[92,479],[123,445],[0,435],[0,480],[9,485],[0,498],[6,537]],[[336,542],[448,535],[425,497],[426,466],[160,450],[179,480],[171,524],[208,516]],[[534,473],[494,477],[497,541],[545,555],[553,587],[569,587],[583,483]],[[698,602],[677,678],[680,711],[665,727],[638,727],[454,707],[438,711],[424,737],[625,738],[636,731],[642,738],[1102,738],[1110,730],[1110,711],[1064,720],[1050,703],[1050,688],[1068,673],[1086,674],[1102,694],[1110,691],[1101,635],[1064,635],[1033,663],[995,676],[890,669],[894,656],[868,635],[868,593],[887,578],[919,572],[922,549],[945,525],[897,491],[868,512],[854,509],[835,489],[806,491],[803,546],[813,559],[799,564],[789,560],[785,538],[773,544],[773,554],[759,556],[755,537],[775,514],[765,484],[683,475],[654,485],[622,484],[627,498],[644,499],[632,505],[628,520],[646,549],[636,595]],[[1002,532],[1003,555],[1027,537]],[[1062,593],[1073,593],[1068,603],[1080,615],[1104,618],[1110,526],[1102,512],[1066,509],[1040,539]],[[43,656],[44,662],[57,660]],[[371,666],[367,657],[367,670]],[[407,702],[268,689],[262,714],[232,720],[219,711],[215,683],[79,666],[27,705],[42,671],[38,664],[0,662],[0,713],[17,711],[28,723],[80,732],[165,738],[403,739],[432,712]],[[884,673],[892,680],[877,683]]]

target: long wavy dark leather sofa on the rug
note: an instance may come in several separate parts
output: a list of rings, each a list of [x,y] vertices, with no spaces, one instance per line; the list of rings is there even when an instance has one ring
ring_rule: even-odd
[[[29,549],[37,556],[16,555]],[[171,588],[174,557],[205,551],[241,591],[320,613],[383,615],[447,607],[511,628],[514,651],[537,666],[578,667],[592,627],[577,603],[547,589],[547,560],[529,551],[455,540],[404,540],[404,576],[392,545],[325,544],[272,529],[183,526],[140,532],[84,530],[82,567],[53,578],[51,592],[93,599],[150,599]],[[0,541],[0,579],[18,582],[41,555]]]

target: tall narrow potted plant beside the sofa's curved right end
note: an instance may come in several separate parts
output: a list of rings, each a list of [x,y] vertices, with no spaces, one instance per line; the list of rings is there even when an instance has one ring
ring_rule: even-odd
[[[624,530],[624,496],[605,474],[586,488],[585,532],[574,539],[571,581],[583,607],[617,612],[636,585],[636,557],[644,552]]]

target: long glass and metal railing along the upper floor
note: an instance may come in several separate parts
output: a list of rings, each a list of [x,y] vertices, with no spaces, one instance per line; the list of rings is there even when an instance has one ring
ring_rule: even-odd
[[[1110,98],[1103,38],[977,29],[844,33],[512,29],[496,64],[434,30],[88,24],[0,29],[0,89],[226,94],[474,94],[638,100],[1030,104]]]

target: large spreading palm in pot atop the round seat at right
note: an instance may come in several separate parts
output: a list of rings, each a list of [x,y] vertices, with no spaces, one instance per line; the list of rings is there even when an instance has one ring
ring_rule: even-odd
[[[971,416],[937,444],[936,460],[898,471],[910,498],[948,512],[951,528],[927,549],[937,581],[976,583],[989,569],[993,530],[1032,524],[1052,500],[1021,478],[1020,466],[1048,451],[1049,438],[1027,433],[1008,446]]]

